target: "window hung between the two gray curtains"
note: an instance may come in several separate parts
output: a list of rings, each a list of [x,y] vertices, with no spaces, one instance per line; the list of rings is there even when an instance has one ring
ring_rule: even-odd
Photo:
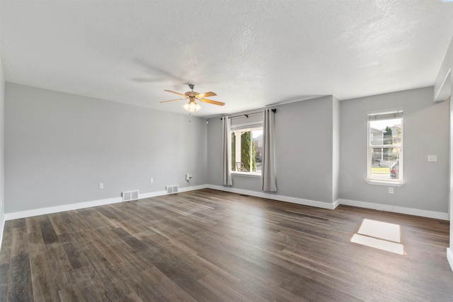
[[[231,171],[260,173],[263,126],[231,128]]]

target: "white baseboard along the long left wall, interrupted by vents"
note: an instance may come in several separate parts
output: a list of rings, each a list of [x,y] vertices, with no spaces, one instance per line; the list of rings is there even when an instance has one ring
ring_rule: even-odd
[[[205,188],[206,188],[206,185],[196,185],[193,187],[180,187],[179,192],[187,192],[187,191],[200,190],[200,189],[205,189]],[[161,195],[165,195],[165,194],[167,194],[166,191],[143,193],[143,194],[139,194],[139,199],[156,197],[156,196],[161,196]],[[31,216],[58,213],[61,211],[71,211],[71,210],[76,210],[76,209],[97,207],[97,206],[103,206],[105,204],[115,204],[117,202],[122,202],[122,198],[114,197],[114,198],[108,198],[108,199],[92,200],[91,202],[77,202],[75,204],[63,204],[61,206],[56,206],[56,207],[46,207],[46,208],[41,208],[41,209],[17,211],[17,212],[13,212],[13,213],[6,213],[4,220],[6,221],[6,220],[26,218],[26,217],[31,217]],[[1,231],[3,232],[3,229]],[[3,233],[1,233],[1,234],[3,235]]]

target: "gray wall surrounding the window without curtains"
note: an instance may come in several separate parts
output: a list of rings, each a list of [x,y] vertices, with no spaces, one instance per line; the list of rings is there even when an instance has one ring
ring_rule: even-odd
[[[340,198],[448,212],[449,104],[420,88],[340,102]],[[404,182],[394,194],[369,185],[367,112],[403,108]],[[437,155],[437,162],[428,162]]]

